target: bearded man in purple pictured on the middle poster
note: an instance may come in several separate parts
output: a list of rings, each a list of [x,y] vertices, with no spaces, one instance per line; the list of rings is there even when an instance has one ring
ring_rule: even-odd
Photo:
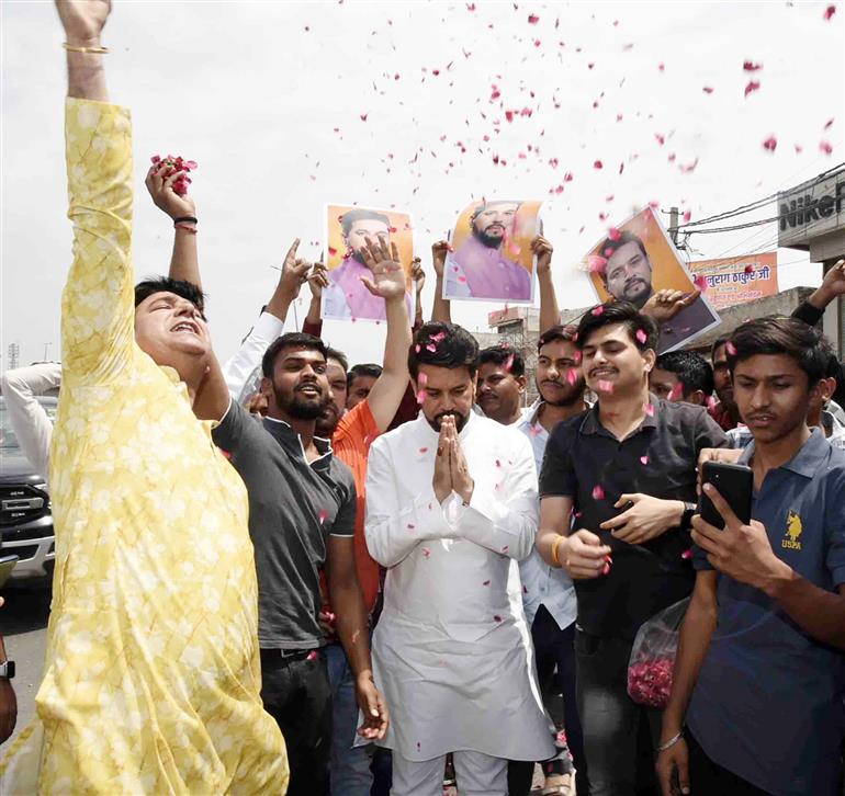
[[[475,208],[470,236],[447,264],[446,291],[450,298],[531,298],[531,274],[508,257],[518,209],[519,202],[485,202]]]

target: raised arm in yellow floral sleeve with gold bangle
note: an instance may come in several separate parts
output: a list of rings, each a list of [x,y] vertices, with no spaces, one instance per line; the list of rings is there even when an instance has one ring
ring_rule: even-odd
[[[100,34],[105,0],[57,3],[70,47],[66,158],[74,264],[61,302],[65,385],[117,378],[135,346],[132,243],[132,126],[106,104]]]

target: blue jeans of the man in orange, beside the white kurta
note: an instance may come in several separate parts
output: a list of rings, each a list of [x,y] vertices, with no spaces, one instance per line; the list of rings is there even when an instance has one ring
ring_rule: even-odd
[[[352,669],[340,644],[323,648],[331,683],[334,729],[331,736],[331,796],[370,796],[372,744],[352,747],[358,729],[358,701]]]

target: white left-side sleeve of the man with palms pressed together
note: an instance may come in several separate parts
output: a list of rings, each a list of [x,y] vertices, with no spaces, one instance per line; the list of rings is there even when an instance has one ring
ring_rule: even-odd
[[[420,542],[453,537],[428,478],[419,491],[399,503],[396,467],[384,439],[373,442],[367,463],[367,519],[364,535],[370,555],[383,567],[402,561]]]

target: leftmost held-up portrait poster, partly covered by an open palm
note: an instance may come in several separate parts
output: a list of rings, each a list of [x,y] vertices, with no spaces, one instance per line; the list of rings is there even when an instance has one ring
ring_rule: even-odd
[[[384,321],[384,299],[374,296],[361,282],[372,278],[361,253],[367,238],[396,243],[405,269],[405,302],[408,318],[414,320],[414,285],[410,265],[414,260],[414,225],[409,213],[385,211],[360,205],[326,206],[326,270],[328,287],[323,291],[323,317],[329,320]]]

